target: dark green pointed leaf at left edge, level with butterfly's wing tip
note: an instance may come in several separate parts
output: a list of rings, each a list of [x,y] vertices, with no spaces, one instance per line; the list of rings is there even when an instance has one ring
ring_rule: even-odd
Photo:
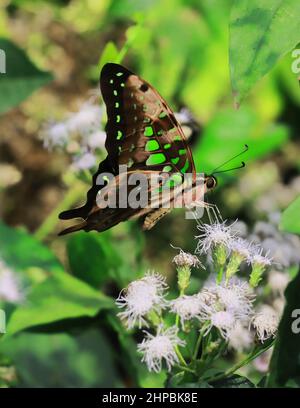
[[[6,73],[0,74],[0,113],[17,106],[32,92],[52,80],[49,72],[40,71],[23,50],[11,41],[0,38],[0,49],[6,55]]]

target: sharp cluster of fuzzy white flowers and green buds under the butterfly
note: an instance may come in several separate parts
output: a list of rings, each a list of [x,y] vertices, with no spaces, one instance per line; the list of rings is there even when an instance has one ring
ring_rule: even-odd
[[[239,236],[235,227],[236,223],[225,222],[199,227],[201,234],[197,237],[196,253],[207,256],[215,272],[199,292],[186,293],[191,269],[203,265],[197,256],[181,249],[173,259],[177,270],[177,298],[170,299],[165,278],[154,272],[121,291],[116,304],[123,309],[118,315],[125,325],[129,329],[146,326],[151,330],[144,332],[145,337],[138,344],[142,361],[150,371],[160,371],[163,362],[169,371],[174,365],[187,365],[180,349],[185,348],[193,330],[199,333],[199,341],[191,361],[197,359],[203,342],[207,350],[202,347],[202,360],[212,353],[209,350],[221,344],[244,352],[257,342],[263,343],[275,336],[279,314],[270,305],[258,307],[255,293],[272,261],[257,244]],[[249,270],[243,279],[237,276],[241,266]],[[217,335],[217,342],[209,343],[211,333]]]

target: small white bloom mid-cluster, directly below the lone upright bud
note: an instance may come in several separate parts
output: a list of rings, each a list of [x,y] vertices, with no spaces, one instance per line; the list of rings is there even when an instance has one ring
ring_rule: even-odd
[[[197,295],[180,296],[170,302],[170,310],[176,313],[183,325],[186,320],[197,317],[202,309],[202,303]]]

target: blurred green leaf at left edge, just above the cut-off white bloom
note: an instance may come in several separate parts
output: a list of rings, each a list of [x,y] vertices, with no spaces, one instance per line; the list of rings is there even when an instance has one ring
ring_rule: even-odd
[[[63,272],[56,256],[26,231],[11,228],[0,222],[0,257],[16,271],[30,267],[47,272]]]

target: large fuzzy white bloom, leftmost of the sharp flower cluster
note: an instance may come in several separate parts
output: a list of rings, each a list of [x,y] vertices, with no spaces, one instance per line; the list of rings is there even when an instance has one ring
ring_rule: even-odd
[[[148,326],[145,320],[147,313],[152,310],[160,312],[166,307],[166,289],[165,278],[155,273],[149,273],[144,278],[131,282],[116,300],[117,306],[125,309],[118,313],[118,316],[127,321],[129,329],[134,327],[136,322],[139,327]]]

